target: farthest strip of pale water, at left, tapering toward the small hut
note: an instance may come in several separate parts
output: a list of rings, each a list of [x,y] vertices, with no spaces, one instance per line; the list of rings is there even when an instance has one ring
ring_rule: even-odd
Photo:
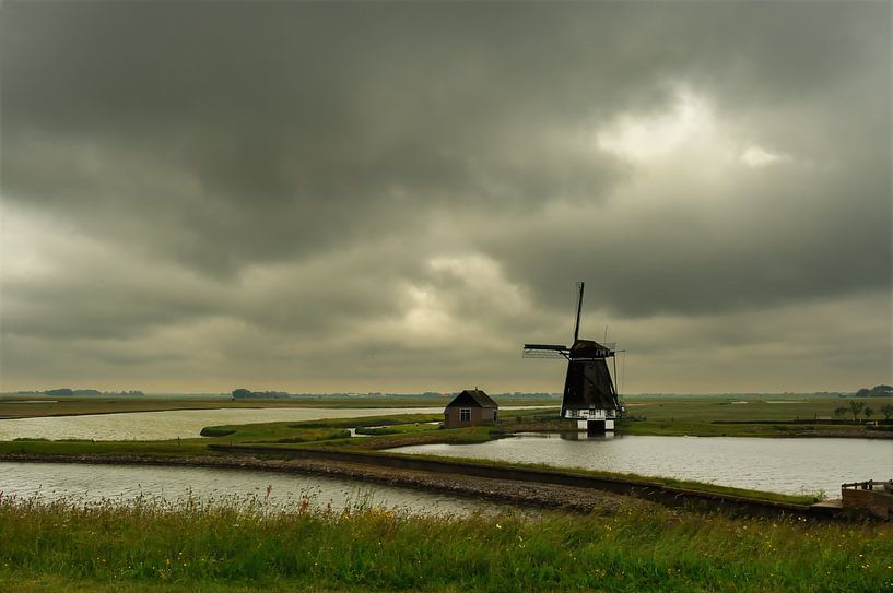
[[[52,416],[0,420],[0,440],[95,439],[95,440],[164,440],[195,438],[205,426],[228,424],[319,420],[387,416],[390,414],[440,414],[443,407],[401,408],[224,408],[172,410],[168,412],[131,412],[84,416]]]

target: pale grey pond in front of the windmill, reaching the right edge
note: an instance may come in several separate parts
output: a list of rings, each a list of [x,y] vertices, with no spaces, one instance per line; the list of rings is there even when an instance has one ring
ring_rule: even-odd
[[[831,498],[839,497],[843,483],[893,477],[893,441],[870,439],[618,436],[577,440],[526,435],[480,444],[420,444],[391,451],[544,463],[785,494],[824,490]]]

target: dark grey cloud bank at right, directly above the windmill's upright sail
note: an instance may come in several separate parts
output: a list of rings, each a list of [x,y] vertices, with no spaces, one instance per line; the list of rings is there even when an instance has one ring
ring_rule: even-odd
[[[537,286],[560,285],[568,270],[591,278],[596,298],[621,315],[714,312],[886,290],[891,193],[883,166],[876,166],[868,179],[813,170],[782,175],[769,187],[737,179],[722,195],[671,201],[613,221],[529,221],[486,244],[513,277],[541,274]],[[704,190],[683,191],[691,199]]]

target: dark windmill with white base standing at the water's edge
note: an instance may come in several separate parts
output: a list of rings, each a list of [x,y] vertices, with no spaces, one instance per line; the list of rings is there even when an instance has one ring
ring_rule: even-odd
[[[579,319],[584,286],[585,283],[577,283],[579,288],[577,318],[571,347],[559,344],[525,344],[522,356],[566,359],[567,376],[564,380],[561,417],[576,419],[580,430],[604,432],[614,429],[614,418],[621,410],[614,382],[608,370],[608,358],[614,358],[615,344],[580,340]],[[616,365],[614,375],[616,376]]]

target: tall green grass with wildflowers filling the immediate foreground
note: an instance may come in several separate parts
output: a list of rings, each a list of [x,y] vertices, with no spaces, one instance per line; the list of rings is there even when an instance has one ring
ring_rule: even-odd
[[[893,591],[893,524],[0,500],[3,591]]]

